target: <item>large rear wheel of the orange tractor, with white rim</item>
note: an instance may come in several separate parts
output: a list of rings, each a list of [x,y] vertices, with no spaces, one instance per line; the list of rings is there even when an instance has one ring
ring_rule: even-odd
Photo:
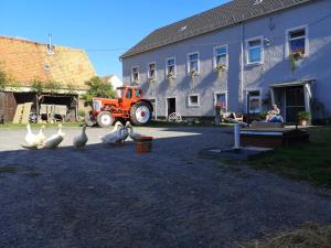
[[[151,106],[145,101],[136,103],[130,110],[130,120],[135,126],[147,125],[152,117]]]

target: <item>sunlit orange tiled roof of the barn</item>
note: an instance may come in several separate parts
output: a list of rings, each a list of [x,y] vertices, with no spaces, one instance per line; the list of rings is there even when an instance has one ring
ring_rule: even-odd
[[[77,89],[96,75],[82,50],[47,45],[15,37],[0,36],[0,68],[15,82],[29,86],[33,80],[56,82]]]

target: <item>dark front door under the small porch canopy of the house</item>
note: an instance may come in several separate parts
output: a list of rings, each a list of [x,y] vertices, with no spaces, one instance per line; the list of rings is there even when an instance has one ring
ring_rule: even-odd
[[[305,110],[303,87],[286,88],[286,122],[298,123],[298,112]]]

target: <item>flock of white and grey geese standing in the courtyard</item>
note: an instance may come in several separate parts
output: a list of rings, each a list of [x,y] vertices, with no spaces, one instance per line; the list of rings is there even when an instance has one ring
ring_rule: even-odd
[[[45,129],[44,126],[41,127],[38,134],[34,134],[31,131],[30,123],[26,125],[26,134],[25,134],[25,143],[26,145],[22,145],[26,149],[58,149],[58,145],[62,143],[65,137],[65,132],[62,131],[62,125],[60,123],[57,126],[57,132],[50,138],[46,138],[43,130]],[[141,137],[140,133],[137,133],[134,131],[134,128],[129,121],[126,122],[124,126],[121,122],[117,121],[115,123],[114,129],[105,134],[100,136],[100,140],[105,144],[118,144],[122,145],[125,144],[125,141],[130,137],[134,141],[136,141],[139,137]],[[86,125],[83,126],[82,132],[79,136],[74,137],[73,139],[73,145],[77,150],[85,149],[88,141],[88,137],[86,134]]]

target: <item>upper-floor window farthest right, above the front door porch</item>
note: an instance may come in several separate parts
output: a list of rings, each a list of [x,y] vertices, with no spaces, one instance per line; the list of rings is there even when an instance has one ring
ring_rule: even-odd
[[[287,55],[293,53],[300,53],[301,55],[308,54],[308,35],[306,26],[287,31]]]

